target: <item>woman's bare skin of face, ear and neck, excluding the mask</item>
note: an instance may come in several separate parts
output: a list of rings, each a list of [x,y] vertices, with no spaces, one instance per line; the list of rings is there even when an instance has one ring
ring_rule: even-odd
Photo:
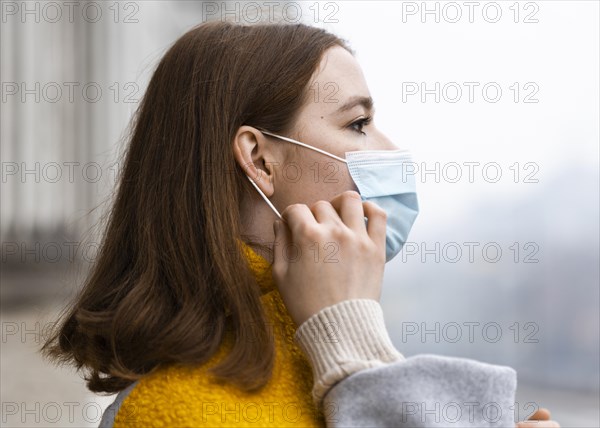
[[[348,151],[399,148],[369,120],[374,113],[369,88],[358,62],[344,48],[325,52],[308,95],[291,134],[283,137],[340,158]],[[344,162],[256,128],[240,127],[233,149],[238,164],[280,213],[291,204],[311,207],[346,190],[358,191]],[[245,233],[270,241],[277,216],[258,192],[244,199],[241,209]]]

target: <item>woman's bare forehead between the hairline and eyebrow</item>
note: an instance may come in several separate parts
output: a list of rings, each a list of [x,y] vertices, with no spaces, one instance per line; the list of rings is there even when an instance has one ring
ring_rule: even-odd
[[[323,54],[309,85],[306,110],[332,114],[351,98],[369,97],[362,69],[346,49],[335,46]]]

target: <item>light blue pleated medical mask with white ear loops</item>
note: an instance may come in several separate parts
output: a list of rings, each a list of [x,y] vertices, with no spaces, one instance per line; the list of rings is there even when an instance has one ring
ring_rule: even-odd
[[[414,168],[411,165],[411,168],[407,169],[407,165],[412,163],[411,156],[407,151],[361,150],[346,152],[346,159],[343,159],[325,150],[309,146],[291,138],[282,137],[267,131],[261,132],[346,163],[361,199],[375,203],[387,214],[385,237],[386,262],[389,262],[402,250],[408,238],[408,233],[419,212],[415,177],[412,173]],[[279,214],[254,180],[250,177],[248,177],[248,180],[258,190],[275,214],[281,218],[281,214]]]

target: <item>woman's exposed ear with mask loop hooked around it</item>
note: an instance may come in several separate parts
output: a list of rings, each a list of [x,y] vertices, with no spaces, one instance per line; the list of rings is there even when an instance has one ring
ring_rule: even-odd
[[[262,132],[247,125],[240,126],[233,138],[236,162],[267,197],[275,192],[273,178],[277,162],[274,161],[272,144]]]

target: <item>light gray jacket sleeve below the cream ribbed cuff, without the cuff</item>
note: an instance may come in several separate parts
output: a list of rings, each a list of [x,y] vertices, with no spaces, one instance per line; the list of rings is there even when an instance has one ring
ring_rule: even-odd
[[[358,371],[325,395],[328,427],[514,427],[516,372],[416,355]]]

